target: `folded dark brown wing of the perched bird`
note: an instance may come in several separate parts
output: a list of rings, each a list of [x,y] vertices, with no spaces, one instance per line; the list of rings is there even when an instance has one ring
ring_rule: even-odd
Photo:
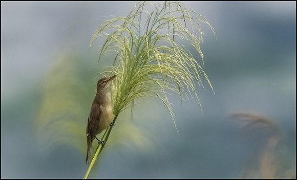
[[[87,134],[89,133],[92,139],[96,136],[98,125],[100,122],[100,116],[102,109],[99,103],[93,103],[91,107],[91,113],[88,118]]]

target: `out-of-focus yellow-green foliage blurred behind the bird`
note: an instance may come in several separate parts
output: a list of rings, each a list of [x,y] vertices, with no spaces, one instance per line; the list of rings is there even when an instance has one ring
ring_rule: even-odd
[[[49,153],[59,146],[68,146],[81,151],[85,158],[86,126],[97,80],[90,80],[96,67],[83,59],[76,54],[58,55],[41,83],[43,94],[33,125],[38,147],[43,153]],[[129,119],[123,114],[120,118]],[[116,127],[106,148],[118,143],[131,146],[123,142],[131,142],[143,149],[151,146],[150,140],[131,121],[119,121]],[[93,152],[95,148],[93,146]]]

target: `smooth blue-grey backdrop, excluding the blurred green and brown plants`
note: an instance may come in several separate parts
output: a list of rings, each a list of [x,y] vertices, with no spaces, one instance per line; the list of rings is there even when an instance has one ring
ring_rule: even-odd
[[[103,16],[126,16],[135,3],[1,2],[2,178],[84,176],[84,152],[36,145],[40,84],[61,53],[98,66],[100,40],[89,43]],[[197,86],[203,114],[195,99],[184,97],[181,104],[176,95],[168,96],[179,134],[161,102],[137,106],[133,122],[150,132],[153,150],[116,145],[100,157],[93,177],[239,178],[250,145],[238,142],[239,127],[228,116],[242,111],[278,123],[295,165],[296,2],[184,3],[216,33],[204,26],[201,44],[215,95],[206,83],[205,90]]]

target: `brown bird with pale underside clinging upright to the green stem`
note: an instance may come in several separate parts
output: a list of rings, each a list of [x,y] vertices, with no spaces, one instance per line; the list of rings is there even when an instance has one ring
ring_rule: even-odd
[[[93,140],[96,135],[108,128],[113,120],[111,82],[116,75],[110,78],[102,78],[97,83],[97,93],[91,107],[91,113],[87,125],[87,159],[90,163],[90,155]]]

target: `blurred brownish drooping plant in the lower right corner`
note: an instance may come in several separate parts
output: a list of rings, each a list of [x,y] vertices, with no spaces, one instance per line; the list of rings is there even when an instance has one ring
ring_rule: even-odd
[[[281,128],[273,120],[248,113],[231,115],[241,126],[241,137],[260,140],[242,170],[242,178],[296,178],[296,165],[285,145]]]

